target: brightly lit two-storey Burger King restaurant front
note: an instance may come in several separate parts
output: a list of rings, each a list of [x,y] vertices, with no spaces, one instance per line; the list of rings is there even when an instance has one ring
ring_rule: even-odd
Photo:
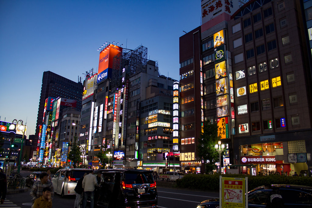
[[[241,145],[241,164],[246,164],[241,172],[249,175],[258,175],[259,172],[263,175],[269,172],[289,173],[290,164],[277,159],[283,159],[283,155],[282,142]]]

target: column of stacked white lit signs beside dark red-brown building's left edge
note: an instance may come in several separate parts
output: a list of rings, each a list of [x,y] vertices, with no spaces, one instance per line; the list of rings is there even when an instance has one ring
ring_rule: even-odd
[[[179,82],[173,83],[173,150],[178,151],[179,144]],[[175,105],[176,104],[176,105]]]

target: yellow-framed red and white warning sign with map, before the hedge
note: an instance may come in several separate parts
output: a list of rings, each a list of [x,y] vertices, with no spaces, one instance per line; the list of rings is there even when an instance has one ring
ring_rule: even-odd
[[[226,178],[220,176],[219,206],[222,208],[248,207],[248,178]]]

